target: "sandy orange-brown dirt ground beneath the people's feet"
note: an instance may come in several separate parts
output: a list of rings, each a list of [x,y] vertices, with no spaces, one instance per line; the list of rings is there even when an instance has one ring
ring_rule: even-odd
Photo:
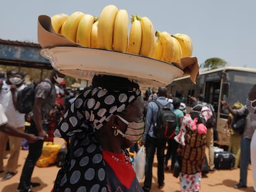
[[[59,138],[55,138],[54,142],[62,144],[63,141]],[[27,157],[27,151],[20,151],[19,157],[19,169],[18,173],[12,177],[10,180],[6,180],[4,182],[0,181],[0,191],[2,192],[13,192],[16,191],[20,173],[22,171],[23,163],[25,158]],[[6,165],[7,159],[4,159],[4,165]],[[169,162],[170,164],[170,162]],[[173,177],[173,174],[169,171],[164,174],[164,182],[165,186],[162,190],[158,190],[157,185],[157,169],[156,169],[156,157],[155,163],[153,164],[153,180],[152,180],[152,188],[151,191],[170,191],[177,192],[180,191],[179,186],[179,178]],[[247,176],[247,188],[243,189],[235,189],[234,185],[239,181],[239,169],[233,170],[216,170],[213,173],[208,173],[206,177],[202,178],[202,191],[213,192],[213,191],[254,191],[253,178],[252,178],[252,167],[249,165],[248,176]],[[40,182],[41,185],[39,187],[33,188],[33,191],[51,191],[53,188],[54,179],[56,177],[56,173],[58,172],[59,167],[56,165],[52,165],[51,167],[35,167],[35,170],[32,175],[32,182]],[[4,177],[4,173],[0,173],[0,180]],[[143,186],[143,182],[141,183]]]

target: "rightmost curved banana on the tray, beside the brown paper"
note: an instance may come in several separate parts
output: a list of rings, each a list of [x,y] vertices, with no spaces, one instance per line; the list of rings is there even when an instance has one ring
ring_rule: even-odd
[[[181,45],[182,57],[191,57],[193,51],[193,44],[189,35],[183,33],[176,33],[172,36],[176,38],[176,40],[179,41],[179,44]]]

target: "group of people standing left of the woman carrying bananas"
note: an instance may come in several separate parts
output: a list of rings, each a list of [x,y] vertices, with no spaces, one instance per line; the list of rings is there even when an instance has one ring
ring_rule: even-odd
[[[40,81],[35,88],[33,110],[28,114],[17,110],[17,93],[23,90],[25,74],[10,70],[0,81],[0,173],[6,172],[2,182],[17,174],[18,160],[22,139],[28,144],[28,156],[23,165],[18,191],[31,191],[31,187],[40,183],[31,181],[36,161],[41,155],[43,141],[53,141],[53,131],[65,109],[65,99],[69,102],[73,97],[64,94],[64,76],[56,70]],[[76,90],[69,90],[75,93]],[[77,93],[74,94],[76,96]],[[58,116],[59,114],[59,116]],[[30,122],[25,131],[25,121]],[[52,127],[50,125],[53,125]],[[9,144],[9,157],[4,170],[4,157]]]

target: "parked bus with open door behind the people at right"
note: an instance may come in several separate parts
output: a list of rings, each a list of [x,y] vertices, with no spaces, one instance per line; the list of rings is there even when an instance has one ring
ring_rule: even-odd
[[[256,69],[245,67],[223,67],[207,70],[198,75],[196,83],[192,83],[189,76],[176,78],[167,86],[168,93],[173,96],[177,92],[184,94],[187,112],[190,112],[192,99],[199,94],[205,96],[205,102],[213,105],[216,112],[215,143],[220,146],[229,146],[229,137],[226,136],[226,121],[228,109],[221,105],[221,100],[227,101],[229,106],[234,102],[246,103],[250,88],[256,84]]]

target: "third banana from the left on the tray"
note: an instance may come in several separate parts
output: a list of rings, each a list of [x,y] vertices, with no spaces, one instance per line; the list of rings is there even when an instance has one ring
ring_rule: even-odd
[[[85,47],[90,47],[92,26],[94,16],[90,14],[83,15],[77,27],[76,43]]]

